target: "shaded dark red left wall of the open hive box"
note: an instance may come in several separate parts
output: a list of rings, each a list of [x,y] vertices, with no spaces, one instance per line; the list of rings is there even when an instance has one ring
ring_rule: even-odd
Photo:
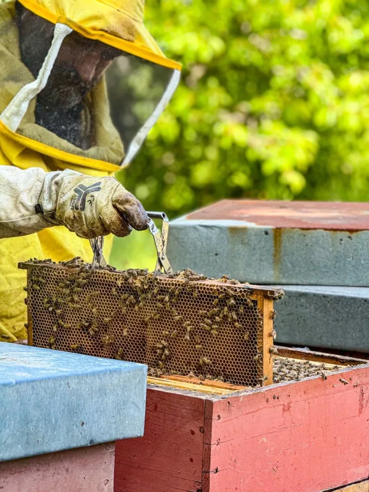
[[[201,490],[203,396],[148,389],[145,435],[117,442],[115,492]]]

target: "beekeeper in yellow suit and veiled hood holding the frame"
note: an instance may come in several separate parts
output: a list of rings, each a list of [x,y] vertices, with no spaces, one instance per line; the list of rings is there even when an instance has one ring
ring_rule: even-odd
[[[145,29],[143,3],[0,5],[0,341],[27,338],[18,262],[91,259],[82,238],[147,226],[113,173],[140,149],[180,65]]]

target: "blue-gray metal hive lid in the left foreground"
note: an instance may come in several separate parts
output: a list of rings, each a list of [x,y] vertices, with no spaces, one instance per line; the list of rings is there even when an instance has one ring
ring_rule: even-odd
[[[147,367],[0,343],[0,461],[142,436]]]

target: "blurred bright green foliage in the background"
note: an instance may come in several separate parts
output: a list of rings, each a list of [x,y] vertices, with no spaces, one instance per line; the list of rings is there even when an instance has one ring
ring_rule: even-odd
[[[120,179],[172,217],[225,197],[367,200],[366,0],[148,0],[182,83]]]

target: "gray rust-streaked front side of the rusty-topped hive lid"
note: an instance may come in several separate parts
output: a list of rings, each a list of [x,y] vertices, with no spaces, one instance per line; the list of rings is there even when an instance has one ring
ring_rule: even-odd
[[[175,270],[254,284],[369,286],[369,231],[279,229],[241,220],[173,220]]]

